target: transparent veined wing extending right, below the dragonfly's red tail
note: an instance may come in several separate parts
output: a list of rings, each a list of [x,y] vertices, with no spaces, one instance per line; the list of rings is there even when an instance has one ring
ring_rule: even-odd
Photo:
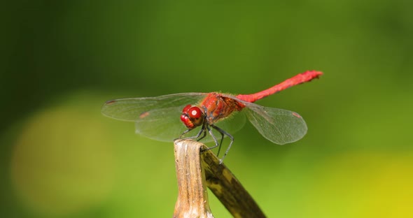
[[[296,112],[241,102],[246,104],[244,110],[249,121],[262,136],[273,143],[279,145],[293,143],[307,133],[307,124]]]

